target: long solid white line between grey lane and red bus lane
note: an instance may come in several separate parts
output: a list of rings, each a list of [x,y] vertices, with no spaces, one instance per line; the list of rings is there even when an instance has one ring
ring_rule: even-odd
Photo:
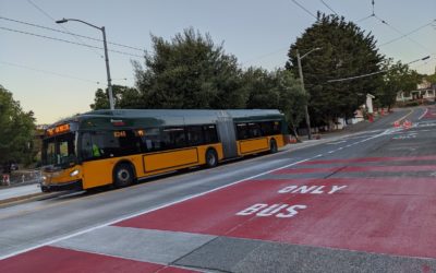
[[[389,130],[386,130],[386,131],[384,131],[384,132],[382,132],[379,134],[373,135],[373,136],[364,140],[364,141],[373,140],[373,139],[376,139],[378,136],[386,135],[388,131]],[[332,153],[335,153],[335,151],[330,151],[328,153],[332,154]],[[34,249],[37,249],[37,248],[40,248],[40,247],[45,247],[45,246],[48,246],[48,245],[56,244],[56,242],[61,241],[61,240],[70,239],[72,237],[75,237],[75,236],[78,236],[78,235],[82,235],[82,234],[86,234],[86,233],[93,232],[95,229],[105,227],[105,226],[110,226],[110,225],[116,224],[118,222],[122,222],[122,221],[125,221],[125,219],[129,219],[129,218],[133,218],[133,217],[136,217],[136,216],[140,216],[140,215],[143,215],[143,214],[147,214],[147,213],[150,213],[150,212],[154,212],[154,211],[158,211],[158,210],[161,210],[161,209],[165,209],[165,207],[168,207],[168,206],[171,206],[171,205],[174,205],[174,204],[178,204],[178,203],[181,203],[181,202],[194,199],[194,198],[203,197],[205,194],[208,194],[208,193],[211,193],[211,192],[215,192],[215,191],[231,187],[233,185],[237,185],[237,183],[240,183],[240,182],[243,182],[243,181],[246,181],[246,180],[251,180],[251,179],[264,176],[264,175],[268,175],[268,174],[274,173],[274,171],[279,170],[279,169],[289,168],[289,167],[295,166],[295,165],[298,165],[300,163],[312,161],[312,159],[317,158],[319,156],[323,156],[323,154],[319,154],[319,155],[316,155],[316,156],[312,156],[312,157],[308,157],[308,158],[305,158],[305,159],[301,159],[299,162],[294,162],[294,163],[291,163],[291,164],[275,168],[275,169],[270,169],[270,170],[261,173],[258,175],[254,175],[254,176],[251,176],[251,177],[247,177],[247,178],[243,178],[241,180],[238,180],[238,181],[234,181],[232,183],[228,183],[228,185],[218,187],[216,189],[211,189],[211,190],[208,190],[208,191],[205,191],[205,192],[201,192],[201,193],[193,194],[193,195],[190,195],[190,197],[186,197],[186,198],[182,198],[182,199],[175,200],[173,202],[156,206],[154,209],[148,209],[148,210],[145,210],[145,211],[141,211],[141,212],[128,215],[128,216],[123,216],[123,217],[120,217],[120,218],[117,218],[117,219],[112,219],[110,222],[107,222],[107,223],[104,223],[104,224],[100,224],[100,225],[97,225],[97,226],[94,226],[94,227],[89,227],[89,228],[86,228],[86,229],[83,229],[83,230],[80,230],[80,232],[76,232],[76,233],[73,233],[73,234],[70,234],[70,235],[65,235],[63,237],[59,237],[57,239],[52,239],[52,240],[49,240],[49,241],[46,241],[46,242],[41,242],[41,244],[35,245],[33,247],[12,252],[10,254],[2,256],[2,257],[0,257],[0,261],[4,260],[4,259],[8,259],[8,258],[11,258],[11,257],[14,257],[14,256],[17,256],[17,254],[21,254],[21,253],[24,253],[24,252],[27,252],[27,251],[31,251],[31,250],[34,250]]]

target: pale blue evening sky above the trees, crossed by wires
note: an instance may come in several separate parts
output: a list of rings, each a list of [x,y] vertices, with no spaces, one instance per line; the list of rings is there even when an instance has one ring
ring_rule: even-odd
[[[132,60],[143,62],[152,50],[150,34],[171,39],[193,27],[223,43],[241,68],[274,70],[317,11],[355,22],[396,61],[431,56],[411,68],[435,72],[436,0],[374,0],[375,16],[372,0],[0,0],[0,84],[39,124],[90,110],[96,90],[107,86],[102,41],[64,33],[102,35],[78,22],[55,23],[62,17],[105,26],[107,40],[124,46],[108,45],[118,51],[109,51],[112,84],[134,86]]]

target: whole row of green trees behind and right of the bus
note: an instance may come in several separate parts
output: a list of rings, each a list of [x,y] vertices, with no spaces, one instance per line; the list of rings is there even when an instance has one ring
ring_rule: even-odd
[[[296,128],[307,104],[312,123],[324,126],[352,118],[367,93],[376,96],[376,105],[390,107],[398,91],[413,88],[420,80],[408,66],[379,54],[371,33],[320,13],[290,45],[286,67],[275,71],[241,69],[222,44],[193,28],[170,40],[152,36],[152,41],[144,63],[133,62],[135,87],[113,86],[117,108],[277,108]],[[296,50],[306,92],[299,80]],[[371,76],[331,81],[364,74]],[[106,91],[97,90],[90,107],[109,108],[107,97]]]

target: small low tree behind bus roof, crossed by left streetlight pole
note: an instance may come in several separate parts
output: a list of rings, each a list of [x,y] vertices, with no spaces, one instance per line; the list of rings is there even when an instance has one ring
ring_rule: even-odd
[[[140,104],[141,95],[136,88],[121,85],[112,85],[113,100],[116,108],[142,108]],[[90,105],[93,110],[109,109],[108,90],[98,88],[95,93],[94,104]]]

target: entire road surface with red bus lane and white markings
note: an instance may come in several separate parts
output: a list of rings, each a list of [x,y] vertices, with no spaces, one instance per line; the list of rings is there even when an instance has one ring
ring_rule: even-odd
[[[393,128],[401,118],[409,129]],[[435,272],[436,108],[0,209],[0,272]]]

